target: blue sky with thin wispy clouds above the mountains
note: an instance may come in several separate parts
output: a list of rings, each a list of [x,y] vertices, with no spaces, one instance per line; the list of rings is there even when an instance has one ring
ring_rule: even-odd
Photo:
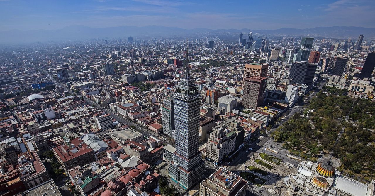
[[[0,0],[0,31],[162,25],[278,29],[375,27],[375,0]]]

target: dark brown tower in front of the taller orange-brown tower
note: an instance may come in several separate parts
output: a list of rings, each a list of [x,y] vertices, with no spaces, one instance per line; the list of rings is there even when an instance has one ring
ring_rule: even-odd
[[[242,105],[257,109],[264,102],[267,78],[251,76],[244,79]]]

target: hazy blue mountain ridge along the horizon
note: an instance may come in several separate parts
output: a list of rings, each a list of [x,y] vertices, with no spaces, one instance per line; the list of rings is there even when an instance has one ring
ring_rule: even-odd
[[[249,32],[253,31],[258,35],[273,35],[273,36],[311,36],[311,37],[325,37],[325,38],[339,38],[357,39],[360,34],[365,35],[365,39],[375,38],[375,28],[364,27],[347,27],[347,26],[333,26],[333,27],[316,27],[316,28],[280,28],[280,29],[207,29],[194,28],[183,29],[177,27],[164,26],[119,26],[108,28],[91,28],[84,25],[71,25],[62,29],[54,30],[10,30],[0,31],[0,43],[23,43],[34,41],[66,41],[66,40],[83,40],[88,38],[126,38],[132,37],[181,37],[183,35],[194,35],[198,33],[212,32]]]

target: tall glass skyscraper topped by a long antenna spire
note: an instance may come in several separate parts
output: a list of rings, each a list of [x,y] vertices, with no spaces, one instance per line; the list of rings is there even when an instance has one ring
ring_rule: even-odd
[[[189,56],[188,40],[186,56]],[[185,76],[173,94],[176,151],[169,165],[169,176],[185,189],[199,183],[204,172],[204,162],[198,150],[201,94],[194,78],[189,76],[188,63],[189,58],[186,58]]]

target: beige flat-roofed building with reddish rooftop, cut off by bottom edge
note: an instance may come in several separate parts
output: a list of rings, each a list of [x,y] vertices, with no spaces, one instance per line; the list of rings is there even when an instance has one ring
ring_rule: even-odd
[[[199,185],[199,196],[245,196],[249,182],[222,167]]]

